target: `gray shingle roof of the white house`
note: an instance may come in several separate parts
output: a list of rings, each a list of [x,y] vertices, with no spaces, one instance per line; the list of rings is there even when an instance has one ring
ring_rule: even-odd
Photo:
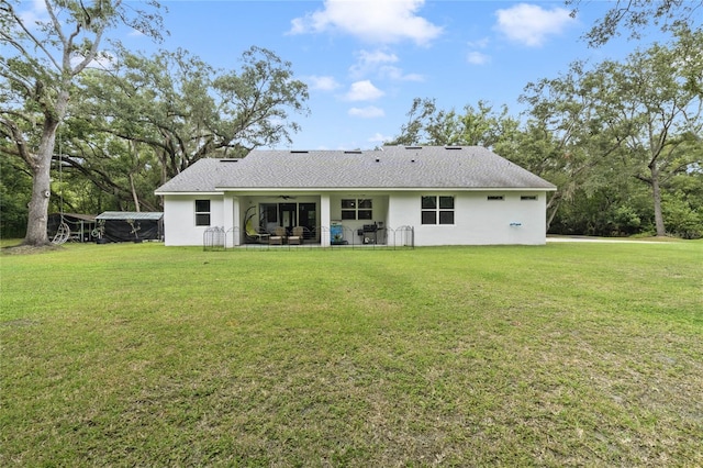
[[[201,159],[157,193],[223,189],[544,189],[555,186],[479,146],[382,151],[253,151]]]

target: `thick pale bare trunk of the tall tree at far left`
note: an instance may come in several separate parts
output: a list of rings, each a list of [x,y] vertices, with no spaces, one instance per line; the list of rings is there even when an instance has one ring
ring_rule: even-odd
[[[56,143],[56,129],[58,121],[46,119],[42,132],[38,153],[32,161],[32,198],[26,223],[24,244],[41,246],[48,244],[46,233],[48,221],[48,201],[52,194],[51,174],[52,155]]]

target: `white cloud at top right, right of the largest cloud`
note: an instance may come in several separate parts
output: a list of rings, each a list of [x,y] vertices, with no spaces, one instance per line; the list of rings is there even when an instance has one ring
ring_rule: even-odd
[[[495,12],[498,24],[495,29],[509,40],[520,42],[529,47],[544,44],[547,36],[560,34],[576,20],[569,10],[555,8],[545,10],[542,7],[520,3],[509,9]]]

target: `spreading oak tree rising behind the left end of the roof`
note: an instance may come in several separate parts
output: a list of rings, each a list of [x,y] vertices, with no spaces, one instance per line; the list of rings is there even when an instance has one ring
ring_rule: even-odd
[[[236,70],[182,49],[148,57],[121,51],[108,74],[87,75],[80,85],[89,97],[78,112],[87,129],[148,147],[161,182],[203,157],[290,143],[300,129],[290,112],[308,112],[308,87],[291,64],[256,46]]]

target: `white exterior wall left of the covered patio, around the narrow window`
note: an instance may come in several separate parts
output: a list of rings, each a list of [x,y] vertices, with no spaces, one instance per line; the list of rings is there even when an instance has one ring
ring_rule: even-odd
[[[203,245],[203,234],[209,226],[196,225],[196,200],[210,200],[210,225],[224,227],[222,194],[164,196],[165,245]]]

